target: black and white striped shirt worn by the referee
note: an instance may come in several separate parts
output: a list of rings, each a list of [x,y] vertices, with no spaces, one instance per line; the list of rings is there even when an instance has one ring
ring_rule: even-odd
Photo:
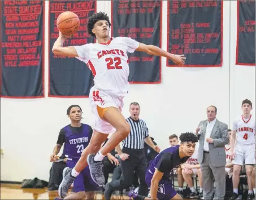
[[[142,119],[138,119],[138,121],[135,121],[131,117],[128,117],[126,121],[131,126],[131,132],[122,141],[123,147],[129,149],[143,149],[144,138],[149,136],[146,122]]]

